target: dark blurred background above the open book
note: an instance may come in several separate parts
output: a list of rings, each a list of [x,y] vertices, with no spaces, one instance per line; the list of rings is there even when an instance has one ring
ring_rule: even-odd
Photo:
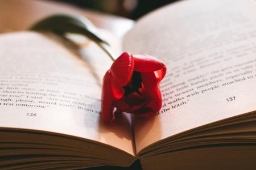
[[[55,0],[65,2],[80,8],[138,19],[155,8],[175,2],[175,0]],[[177,0],[176,0],[177,1]]]

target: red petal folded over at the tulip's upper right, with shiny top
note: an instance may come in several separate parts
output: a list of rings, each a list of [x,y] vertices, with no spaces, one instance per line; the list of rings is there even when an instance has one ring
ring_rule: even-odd
[[[144,55],[134,55],[134,70],[141,73],[152,72],[162,69],[164,64],[155,57]]]

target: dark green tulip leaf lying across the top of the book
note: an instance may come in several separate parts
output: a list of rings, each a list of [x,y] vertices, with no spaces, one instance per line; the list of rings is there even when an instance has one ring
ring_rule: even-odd
[[[51,15],[40,20],[30,30],[51,31],[60,36],[64,36],[65,33],[79,33],[96,42],[114,60],[109,43],[98,35],[97,28],[83,16],[66,14]]]

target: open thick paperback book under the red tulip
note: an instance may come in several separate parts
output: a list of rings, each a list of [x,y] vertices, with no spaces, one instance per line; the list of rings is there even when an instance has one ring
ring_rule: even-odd
[[[117,56],[167,65],[155,117],[101,119],[112,62],[93,42],[77,50],[54,35],[0,36],[0,168],[253,169],[256,167],[256,2],[181,1],[144,16]],[[77,43],[81,37],[76,37]]]

